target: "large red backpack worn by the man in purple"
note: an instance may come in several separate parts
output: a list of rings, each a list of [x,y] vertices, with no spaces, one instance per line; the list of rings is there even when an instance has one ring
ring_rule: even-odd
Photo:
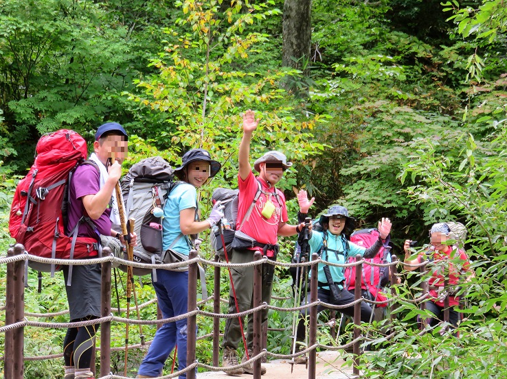
[[[10,235],[17,243],[22,243],[28,253],[56,259],[99,255],[98,237],[91,239],[75,234],[73,238],[67,235],[71,231],[66,230],[71,175],[79,164],[95,165],[85,161],[86,158],[87,143],[72,130],[58,130],[38,140],[35,162],[16,186],[9,219]],[[30,267],[51,271],[52,276],[60,269],[38,262],[30,262]]]

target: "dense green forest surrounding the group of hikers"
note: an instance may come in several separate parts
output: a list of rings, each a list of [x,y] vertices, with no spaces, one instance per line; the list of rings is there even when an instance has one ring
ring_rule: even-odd
[[[390,217],[395,254],[405,239],[427,243],[431,223],[467,226],[477,279],[460,339],[418,336],[417,310],[403,304],[403,343],[370,354],[369,378],[503,378],[506,9],[501,0],[0,1],[0,245],[12,242],[10,199],[41,134],[65,127],[91,142],[98,125],[122,123],[125,170],[209,149],[224,166],[201,190],[207,214],[214,188],[236,186],[240,114],[253,109],[252,161],[280,149],[294,162],[281,183],[291,216],[295,189],[306,188],[313,216],[339,203],[357,227]],[[285,241],[282,259],[291,249]],[[56,284],[48,291],[61,297]],[[280,338],[272,347],[286,345]]]

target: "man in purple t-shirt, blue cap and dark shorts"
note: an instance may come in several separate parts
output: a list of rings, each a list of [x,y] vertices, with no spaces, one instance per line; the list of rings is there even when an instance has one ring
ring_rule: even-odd
[[[119,123],[105,123],[98,128],[89,158],[95,164],[80,164],[69,181],[69,232],[77,228],[78,236],[97,241],[100,236],[111,236],[125,241],[112,226],[120,224],[118,207],[123,204],[116,201],[115,186],[122,175],[127,147],[128,136]],[[131,234],[131,245],[136,240],[137,236]],[[100,318],[100,263],[71,267],[63,267],[71,322]],[[63,343],[65,379],[93,379],[90,363],[98,326],[67,329]]]

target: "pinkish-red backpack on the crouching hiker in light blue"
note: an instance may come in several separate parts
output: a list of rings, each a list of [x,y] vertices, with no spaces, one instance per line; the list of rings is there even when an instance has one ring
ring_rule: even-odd
[[[379,230],[376,228],[357,230],[350,236],[350,242],[361,247],[372,246],[379,239]],[[387,254],[390,254],[388,246],[389,237],[374,258],[364,258],[364,260],[373,263],[387,263]],[[386,248],[387,247],[387,248]],[[350,262],[354,262],[355,258],[351,257]],[[356,267],[347,267],[344,273],[348,289],[354,289],[356,284]],[[380,289],[385,286],[389,280],[389,267],[378,267],[371,265],[363,265],[363,277],[361,278],[361,289],[369,291],[372,299],[376,302],[383,302],[387,297],[382,295]],[[384,307],[387,304],[380,304],[377,307]]]

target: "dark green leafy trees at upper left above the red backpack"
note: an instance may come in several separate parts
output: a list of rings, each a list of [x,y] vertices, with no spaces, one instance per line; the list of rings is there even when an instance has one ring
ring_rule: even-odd
[[[1,3],[0,107],[13,150],[8,164],[17,151],[13,168],[24,171],[38,136],[62,127],[87,138],[104,121],[130,129],[138,110],[120,93],[134,89],[139,72],[151,71],[148,51],[159,48],[161,34],[150,22],[168,22],[161,3],[129,3],[128,12],[117,1]]]

